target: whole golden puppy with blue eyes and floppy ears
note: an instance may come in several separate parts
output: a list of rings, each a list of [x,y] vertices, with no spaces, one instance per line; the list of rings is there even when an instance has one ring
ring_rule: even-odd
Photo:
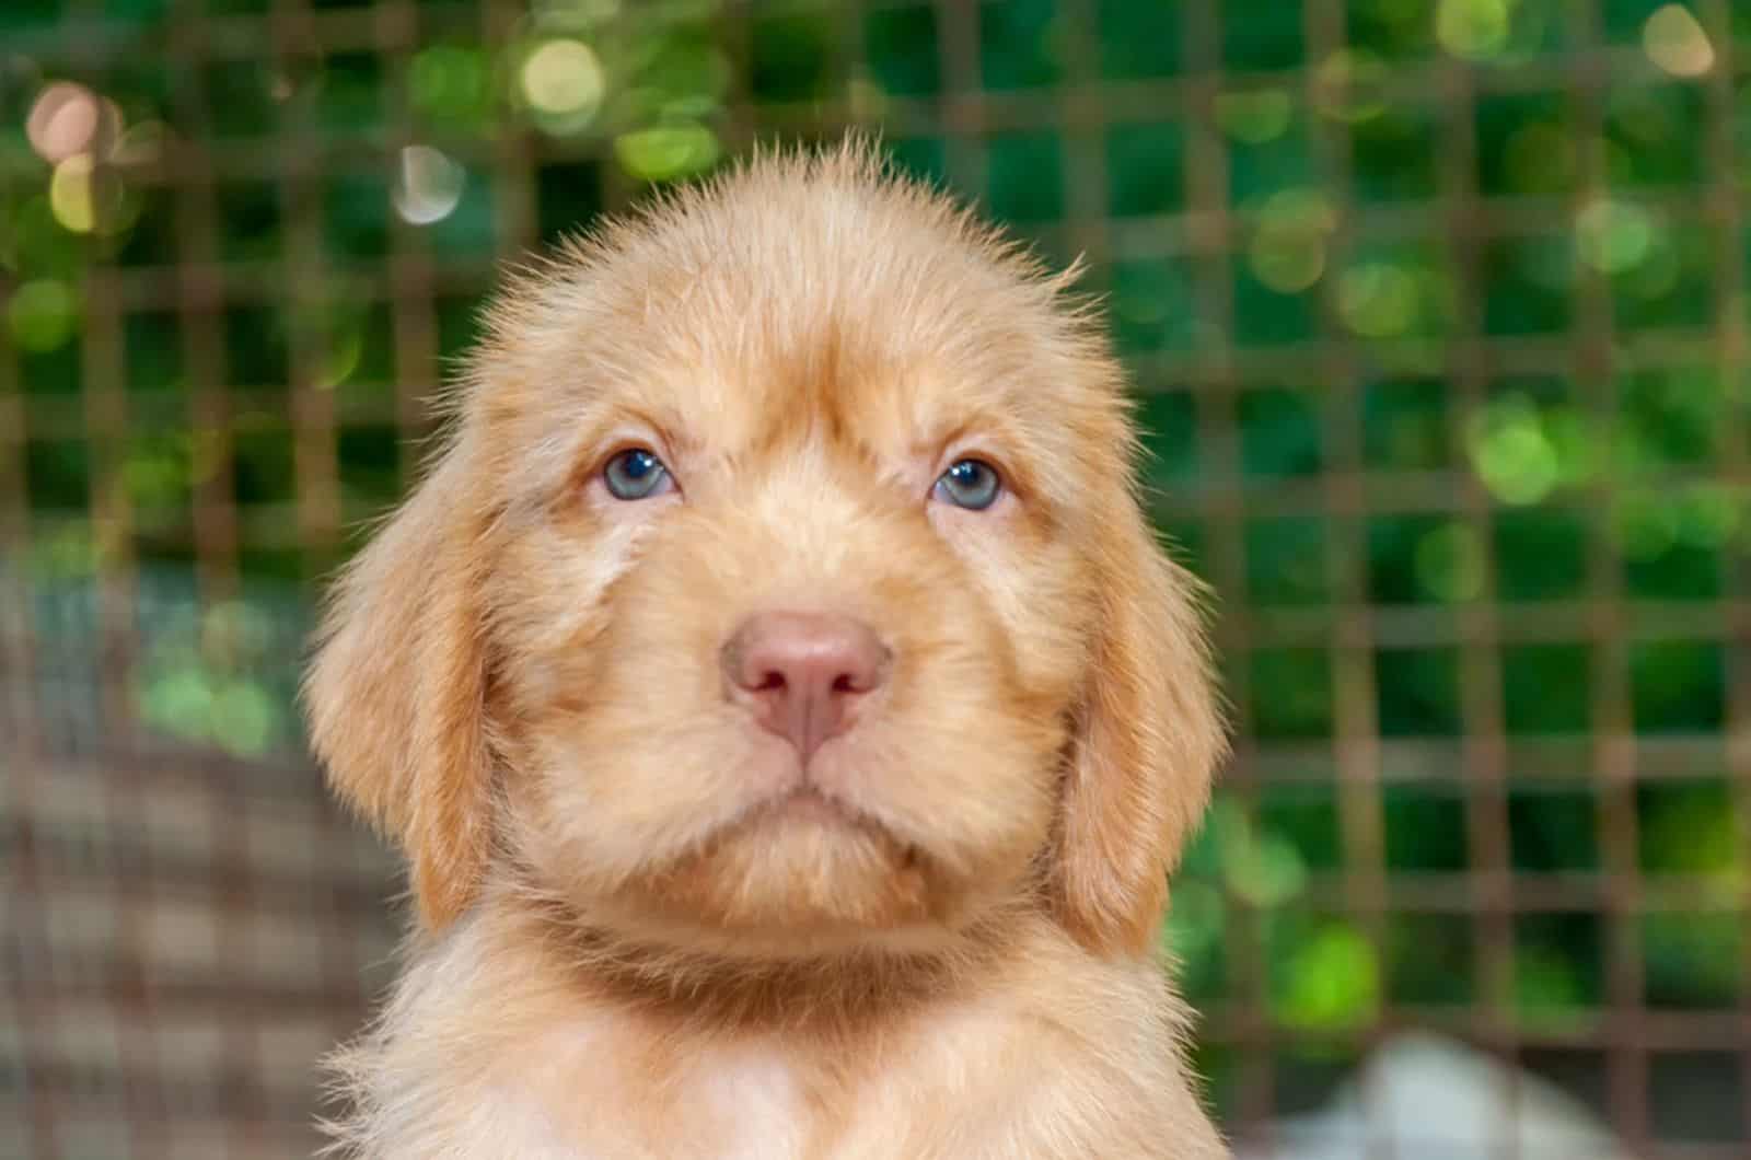
[[[308,683],[420,930],[355,1156],[1217,1156],[1222,748],[1068,277],[868,147],[522,275]]]

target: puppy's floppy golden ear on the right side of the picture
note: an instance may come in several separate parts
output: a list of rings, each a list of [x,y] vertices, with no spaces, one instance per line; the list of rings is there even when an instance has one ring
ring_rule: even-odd
[[[1096,643],[1052,866],[1070,932],[1100,953],[1154,946],[1168,873],[1203,817],[1226,746],[1196,582],[1126,498],[1096,548]]]

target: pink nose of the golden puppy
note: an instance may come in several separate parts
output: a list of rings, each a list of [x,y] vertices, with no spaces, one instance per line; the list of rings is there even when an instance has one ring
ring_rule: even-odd
[[[863,694],[886,680],[888,650],[851,617],[765,612],[730,636],[723,673],[760,727],[807,762],[821,741],[851,727]]]

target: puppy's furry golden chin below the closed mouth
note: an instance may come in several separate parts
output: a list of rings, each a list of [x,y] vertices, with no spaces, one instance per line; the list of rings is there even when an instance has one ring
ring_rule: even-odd
[[[926,853],[807,790],[762,806],[592,908],[627,936],[767,960],[928,953],[979,909]]]

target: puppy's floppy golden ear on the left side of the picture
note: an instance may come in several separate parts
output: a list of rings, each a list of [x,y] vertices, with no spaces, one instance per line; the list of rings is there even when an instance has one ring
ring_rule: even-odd
[[[473,901],[492,839],[471,459],[464,435],[341,575],[305,682],[329,783],[401,845],[431,929]]]

